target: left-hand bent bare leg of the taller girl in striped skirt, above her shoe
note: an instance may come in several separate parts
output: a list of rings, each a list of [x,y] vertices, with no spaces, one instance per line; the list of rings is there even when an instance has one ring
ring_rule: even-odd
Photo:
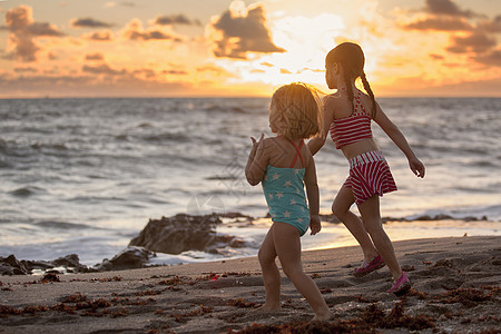
[[[355,198],[352,188],[342,187],[332,204],[332,212],[358,242],[364,253],[364,261],[370,263],[377,256],[377,249],[374,247],[362,220],[350,210],[353,203],[355,203]]]

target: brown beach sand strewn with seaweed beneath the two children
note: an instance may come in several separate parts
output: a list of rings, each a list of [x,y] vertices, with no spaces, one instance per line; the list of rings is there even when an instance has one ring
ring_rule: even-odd
[[[261,313],[256,257],[98,274],[0,277],[0,333],[501,333],[501,237],[394,243],[413,282],[402,297],[386,267],[351,275],[357,246],[303,253],[334,314],[313,312],[283,276],[283,310]]]

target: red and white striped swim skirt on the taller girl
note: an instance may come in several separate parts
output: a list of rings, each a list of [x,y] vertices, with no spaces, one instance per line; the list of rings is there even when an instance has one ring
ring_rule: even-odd
[[[367,151],[350,160],[350,176],[343,187],[350,187],[355,203],[361,204],[377,194],[395,191],[396,184],[383,154]]]

